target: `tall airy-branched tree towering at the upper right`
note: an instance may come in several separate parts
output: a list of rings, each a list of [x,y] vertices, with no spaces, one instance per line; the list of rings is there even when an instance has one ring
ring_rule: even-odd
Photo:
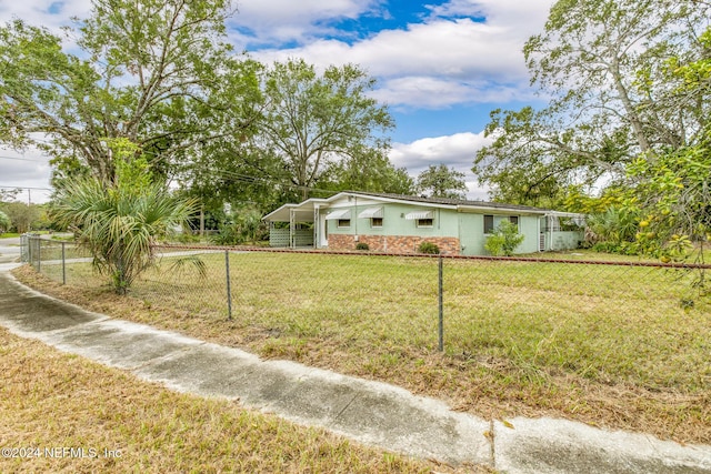
[[[670,61],[708,50],[709,4],[693,0],[559,0],[524,53],[543,109],[495,110],[473,171],[494,198],[538,204],[570,184],[621,180],[640,154],[698,143],[711,102],[680,89]]]

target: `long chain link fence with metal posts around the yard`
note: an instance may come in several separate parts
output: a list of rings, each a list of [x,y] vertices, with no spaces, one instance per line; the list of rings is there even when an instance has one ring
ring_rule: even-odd
[[[698,377],[688,381],[697,386],[711,384],[711,309],[694,286],[708,270],[701,265],[237,248],[156,251],[156,265],[129,295],[187,317],[232,319],[270,337],[388,346],[394,354],[407,347],[443,350],[484,364],[508,357],[602,380],[612,370],[660,384],[682,376]],[[91,260],[73,243],[26,236],[22,255],[54,281],[108,291],[108,279],[93,273]],[[691,359],[689,347],[695,347]],[[653,366],[660,363],[669,369],[663,377]]]

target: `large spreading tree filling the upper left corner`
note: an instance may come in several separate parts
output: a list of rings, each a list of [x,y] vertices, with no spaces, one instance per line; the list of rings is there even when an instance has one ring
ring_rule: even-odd
[[[63,172],[80,164],[111,181],[111,143],[128,139],[153,173],[168,175],[174,160],[251,125],[243,91],[258,84],[253,64],[224,42],[230,8],[93,0],[71,30],[77,54],[48,30],[12,21],[0,29],[0,141],[39,147]]]

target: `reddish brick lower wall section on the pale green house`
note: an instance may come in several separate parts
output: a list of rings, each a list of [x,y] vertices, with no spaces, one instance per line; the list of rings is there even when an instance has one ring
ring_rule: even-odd
[[[421,238],[415,235],[359,235],[358,242],[367,243],[373,252],[418,253],[422,242],[432,242],[443,255],[459,255],[457,238]],[[329,250],[356,250],[356,236],[351,234],[329,234]]]

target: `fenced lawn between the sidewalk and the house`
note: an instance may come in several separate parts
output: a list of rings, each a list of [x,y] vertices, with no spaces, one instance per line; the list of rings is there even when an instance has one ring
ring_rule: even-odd
[[[481,416],[549,415],[711,442],[711,310],[688,274],[445,260],[441,354],[437,260],[232,253],[228,321],[224,255],[202,259],[208,279],[164,259],[126,299],[89,264],[70,268],[79,288],[18,275],[94,311],[394,383]]]

